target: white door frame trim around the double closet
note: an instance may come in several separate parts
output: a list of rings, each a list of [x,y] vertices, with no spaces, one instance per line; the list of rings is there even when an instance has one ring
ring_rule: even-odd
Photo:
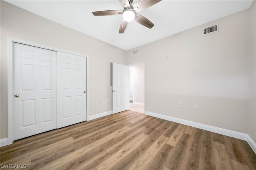
[[[30,46],[34,46],[34,47],[38,47],[38,48],[43,48],[43,49],[48,49],[48,50],[52,50],[52,51],[56,51],[56,52],[63,52],[63,53],[70,53],[70,54],[74,54],[74,55],[79,55],[82,57],[86,57],[86,119],[88,120],[88,111],[89,111],[89,88],[88,88],[88,84],[89,84],[89,57],[88,55],[84,55],[84,54],[80,54],[80,53],[75,53],[72,51],[66,51],[63,49],[58,49],[58,48],[54,48],[54,47],[49,47],[46,45],[41,45],[38,43],[32,43],[29,41],[24,41],[21,39],[15,39],[12,37],[8,37],[8,54],[7,54],[7,143],[5,143],[6,145],[10,145],[13,142],[13,70],[12,70],[12,66],[13,66],[13,54],[12,54],[12,44],[13,43],[21,43],[24,45],[30,45]],[[1,146],[2,147],[2,146]]]

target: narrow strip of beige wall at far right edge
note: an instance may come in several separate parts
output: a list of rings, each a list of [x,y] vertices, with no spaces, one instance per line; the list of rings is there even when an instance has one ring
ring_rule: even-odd
[[[256,1],[249,9],[248,135],[256,143]]]

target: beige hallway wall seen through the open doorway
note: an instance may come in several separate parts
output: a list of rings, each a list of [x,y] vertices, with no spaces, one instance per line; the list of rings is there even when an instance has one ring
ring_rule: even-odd
[[[134,102],[144,104],[144,64],[130,66],[134,70]]]

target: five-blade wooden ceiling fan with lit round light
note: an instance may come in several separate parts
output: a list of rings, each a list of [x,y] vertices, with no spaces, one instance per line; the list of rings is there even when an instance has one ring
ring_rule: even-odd
[[[161,0],[139,0],[138,2],[132,5],[133,0],[119,0],[121,5],[124,7],[123,11],[122,10],[96,11],[96,12],[92,12],[92,14],[94,16],[112,16],[112,15],[122,14],[123,19],[121,21],[119,33],[124,33],[124,30],[128,25],[128,22],[133,20],[137,21],[141,25],[144,25],[145,27],[152,28],[154,24],[144,16],[138,14],[137,12],[142,11],[160,1]]]

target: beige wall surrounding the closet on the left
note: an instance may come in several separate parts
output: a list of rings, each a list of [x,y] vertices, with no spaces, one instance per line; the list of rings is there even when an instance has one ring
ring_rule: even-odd
[[[126,64],[125,51],[31,12],[1,3],[1,139],[7,137],[7,37],[89,56],[89,116],[112,110],[110,62]],[[100,80],[100,81],[99,81]],[[98,104],[101,100],[101,104]],[[110,102],[112,106],[112,102]]]

